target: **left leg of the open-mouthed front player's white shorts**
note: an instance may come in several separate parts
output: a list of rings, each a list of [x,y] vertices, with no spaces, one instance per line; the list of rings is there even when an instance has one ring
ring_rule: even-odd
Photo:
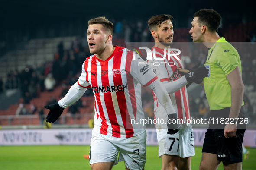
[[[117,164],[118,147],[111,140],[112,136],[92,132],[90,146],[90,164],[113,162]]]

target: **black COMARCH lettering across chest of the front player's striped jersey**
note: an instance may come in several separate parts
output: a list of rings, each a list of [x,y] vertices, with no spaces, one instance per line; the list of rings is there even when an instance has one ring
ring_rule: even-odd
[[[100,86],[100,87],[93,87],[92,88],[94,93],[112,93],[112,92],[117,92],[117,91],[124,91],[124,90],[128,90],[128,85],[127,83],[125,83],[124,85],[110,85],[110,86]]]

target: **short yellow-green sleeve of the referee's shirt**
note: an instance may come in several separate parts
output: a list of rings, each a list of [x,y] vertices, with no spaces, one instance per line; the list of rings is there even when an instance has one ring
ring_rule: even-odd
[[[222,68],[226,76],[239,66],[236,54],[233,52],[226,52],[226,54],[218,55],[217,64]]]

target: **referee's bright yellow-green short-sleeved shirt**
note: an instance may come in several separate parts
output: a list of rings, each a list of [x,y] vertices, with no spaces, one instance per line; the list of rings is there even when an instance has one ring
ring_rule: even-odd
[[[210,69],[210,73],[204,78],[204,89],[210,110],[231,107],[231,85],[226,76],[237,66],[242,72],[237,50],[222,37],[208,51],[205,66]]]

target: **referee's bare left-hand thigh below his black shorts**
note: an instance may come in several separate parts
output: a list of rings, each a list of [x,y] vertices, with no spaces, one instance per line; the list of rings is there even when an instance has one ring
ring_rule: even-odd
[[[217,154],[203,152],[199,170],[217,170],[220,162],[217,160]]]

